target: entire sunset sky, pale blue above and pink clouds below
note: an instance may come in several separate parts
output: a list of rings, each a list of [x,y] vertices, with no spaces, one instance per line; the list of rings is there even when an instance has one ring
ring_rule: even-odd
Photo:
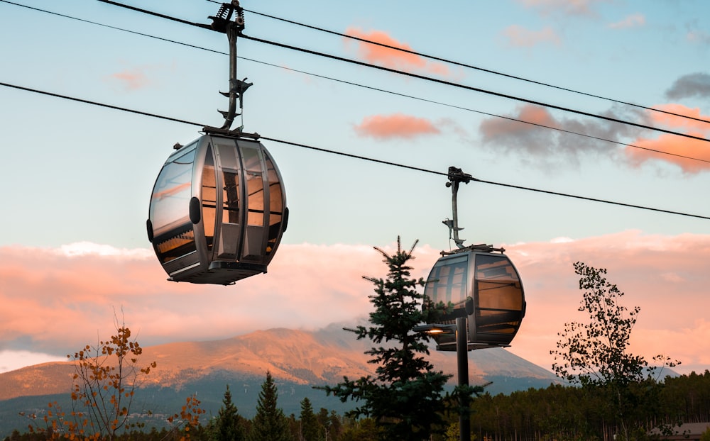
[[[125,3],[198,23],[219,8]],[[235,126],[505,184],[461,185],[459,223],[467,244],[505,247],[523,278],[528,316],[510,352],[551,368],[557,333],[585,318],[581,261],[608,269],[624,305],[640,306],[633,352],[679,359],[681,373],[710,369],[710,220],[510,187],[710,217],[710,142],[697,139],[710,138],[709,2],[241,6],[246,35],[482,90],[240,39],[238,76],[253,86]],[[223,34],[94,0],[0,1],[0,28],[4,84],[222,125]],[[148,201],[173,145],[200,126],[7,85],[0,116],[0,372],[66,359],[111,335],[114,316],[143,346],[353,323],[371,311],[361,276],[386,274],[373,246],[419,240],[416,277],[452,247],[446,177],[264,140],[290,208],[268,274],[228,287],[168,282],[146,238]]]

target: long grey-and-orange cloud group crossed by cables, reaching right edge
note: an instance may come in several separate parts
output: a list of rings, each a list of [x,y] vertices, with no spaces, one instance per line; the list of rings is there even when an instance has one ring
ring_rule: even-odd
[[[703,115],[699,108],[687,108],[680,104],[656,107],[662,111],[710,121],[710,116]],[[625,118],[615,113],[606,114],[613,118]],[[710,136],[710,124],[702,121],[656,111],[646,111],[645,115],[645,122],[657,128],[688,133],[701,138]],[[549,128],[556,128],[559,131]],[[632,167],[657,161],[675,164],[687,174],[710,169],[710,162],[704,162],[710,161],[710,150],[704,141],[671,134],[646,138],[638,135],[641,133],[639,130],[630,130],[628,126],[557,117],[547,108],[532,104],[518,106],[507,118],[484,119],[479,125],[479,130],[485,145],[493,145],[506,152],[515,152],[515,155],[528,155],[530,161],[542,165],[576,165],[579,164],[581,155],[596,154],[603,157],[619,157]],[[572,133],[589,137],[574,135],[574,138],[570,138],[573,136]],[[601,140],[625,140],[628,145],[615,148],[611,142],[601,142]],[[621,155],[616,155],[617,153]]]

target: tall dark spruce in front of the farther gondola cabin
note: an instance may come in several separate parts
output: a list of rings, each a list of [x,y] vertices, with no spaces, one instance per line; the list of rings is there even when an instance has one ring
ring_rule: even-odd
[[[412,331],[415,325],[432,321],[430,314],[437,310],[422,308],[426,300],[416,288],[425,281],[410,278],[408,262],[414,246],[403,251],[399,239],[397,245],[394,255],[375,248],[388,265],[388,276],[386,280],[365,277],[375,285],[375,294],[370,296],[375,306],[371,326],[349,329],[358,340],[367,337],[378,345],[365,352],[373,356],[369,362],[377,364],[376,377],[355,381],[344,377],[337,386],[323,389],[341,401],[362,401],[349,415],[374,418],[383,427],[383,439],[429,440],[443,427],[442,391],[449,375],[435,372],[423,357],[429,354],[428,335]]]

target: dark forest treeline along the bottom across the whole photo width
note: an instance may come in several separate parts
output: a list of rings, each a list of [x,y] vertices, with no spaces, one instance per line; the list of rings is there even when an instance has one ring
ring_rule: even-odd
[[[682,376],[667,376],[663,381],[647,381],[638,387],[652,391],[655,399],[635,403],[634,415],[639,428],[638,440],[654,439],[648,435],[653,428],[672,429],[680,423],[710,421],[710,372],[692,372]],[[618,432],[615,415],[607,405],[603,388],[581,388],[553,384],[545,389],[528,389],[508,395],[491,396],[484,393],[471,403],[471,439],[474,440],[613,440]],[[227,405],[228,406],[228,405]],[[378,425],[370,418],[352,419],[321,408],[313,411],[305,398],[299,415],[283,417],[283,435],[295,441],[354,441],[377,440],[381,435]],[[224,407],[223,407],[224,408]],[[264,409],[261,409],[263,413]],[[271,403],[267,413],[278,414],[278,406]],[[228,415],[228,416],[225,416]],[[273,415],[268,415],[272,418]],[[236,421],[243,438],[219,435],[222,418]],[[256,418],[256,417],[255,417]],[[264,418],[263,416],[261,418]],[[255,419],[239,415],[238,410],[220,413],[201,421],[190,432],[192,440],[249,439]],[[446,413],[446,427],[433,435],[433,441],[457,440],[458,415]],[[168,428],[132,430],[116,440],[160,441],[179,440],[185,434]],[[710,437],[710,434],[707,434]],[[13,432],[5,441],[44,441],[48,433]],[[658,438],[658,437],[656,437]]]

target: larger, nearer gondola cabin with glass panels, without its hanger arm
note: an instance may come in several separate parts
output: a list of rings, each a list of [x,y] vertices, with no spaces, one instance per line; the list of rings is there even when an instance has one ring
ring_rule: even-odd
[[[207,134],[168,157],[147,227],[168,280],[227,285],[266,273],[287,223],[283,182],[266,147]]]

